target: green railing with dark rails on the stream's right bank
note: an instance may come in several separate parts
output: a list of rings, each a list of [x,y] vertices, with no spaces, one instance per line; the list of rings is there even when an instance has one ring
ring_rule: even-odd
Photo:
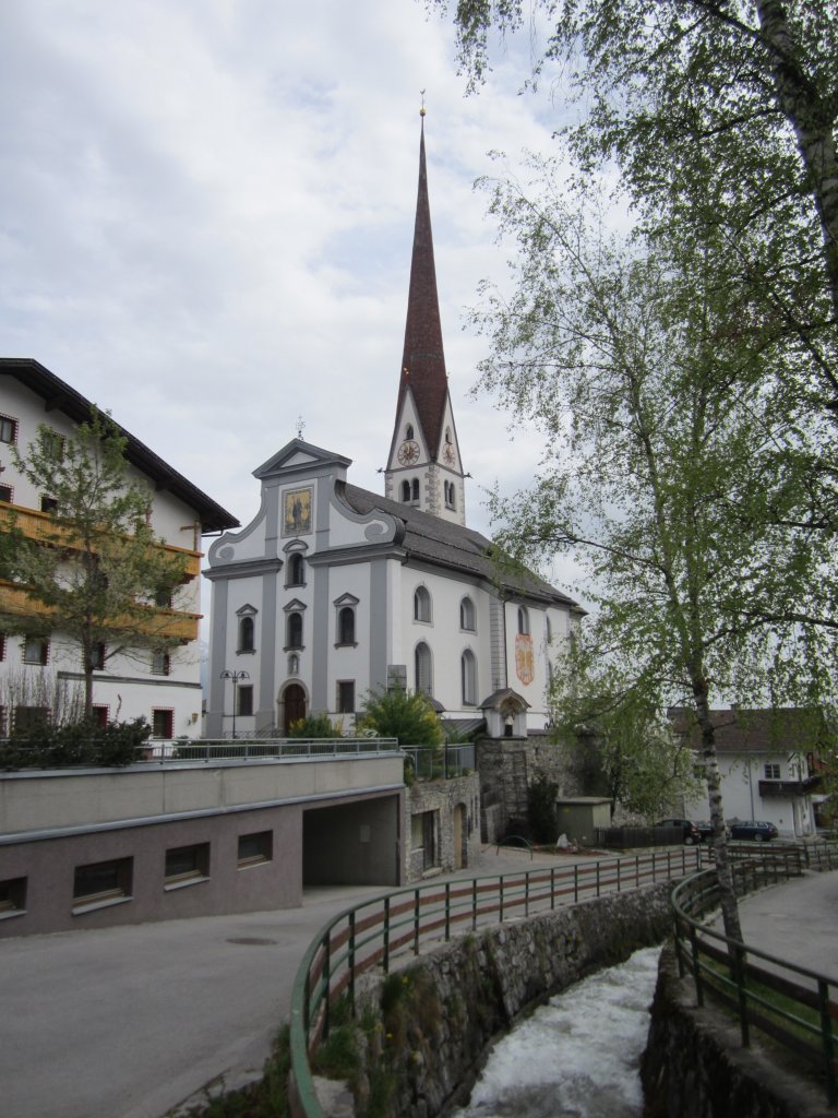
[[[838,846],[783,847],[733,862],[737,894],[799,877],[804,864],[838,866]],[[730,939],[704,923],[718,908],[715,870],[702,870],[673,890],[675,950],[680,976],[692,975],[696,1001],[710,998],[739,1020],[742,1045],[758,1029],[810,1072],[821,1076],[830,1106],[838,1102],[836,1039],[838,982]],[[806,919],[801,913],[801,919]]]

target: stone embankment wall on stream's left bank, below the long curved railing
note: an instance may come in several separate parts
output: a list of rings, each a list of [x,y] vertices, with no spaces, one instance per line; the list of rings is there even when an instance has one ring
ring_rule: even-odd
[[[660,942],[670,928],[663,883],[465,936],[361,997],[355,1112],[434,1118],[464,1101],[492,1041],[585,974]]]

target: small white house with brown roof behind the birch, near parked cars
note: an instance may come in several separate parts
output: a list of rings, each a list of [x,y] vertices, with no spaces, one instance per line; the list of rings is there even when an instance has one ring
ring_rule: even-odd
[[[784,837],[815,832],[812,793],[823,733],[820,712],[807,708],[711,711],[722,777],[724,815],[764,819]],[[689,736],[699,754],[697,728],[680,709],[670,711],[676,732]],[[706,818],[707,797],[685,805],[691,818]]]

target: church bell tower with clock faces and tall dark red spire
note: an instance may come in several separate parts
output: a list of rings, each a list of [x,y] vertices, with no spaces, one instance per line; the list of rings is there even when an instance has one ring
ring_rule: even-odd
[[[425,105],[420,111],[419,190],[410,263],[404,352],[385,496],[456,524],[466,523],[465,483],[442,351],[428,172]]]

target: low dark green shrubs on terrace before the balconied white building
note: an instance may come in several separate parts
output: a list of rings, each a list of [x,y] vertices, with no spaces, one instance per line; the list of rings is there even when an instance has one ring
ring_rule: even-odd
[[[120,767],[140,759],[150,736],[151,727],[143,718],[106,726],[84,720],[64,726],[44,721],[13,735],[0,751],[0,762],[16,768]]]

